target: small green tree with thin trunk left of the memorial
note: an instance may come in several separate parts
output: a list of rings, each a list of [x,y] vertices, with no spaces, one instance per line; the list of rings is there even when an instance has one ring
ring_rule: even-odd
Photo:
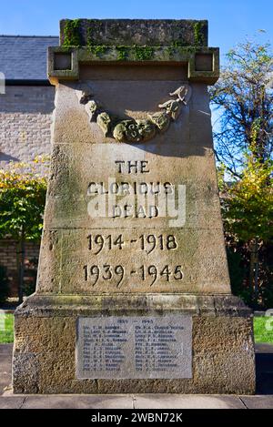
[[[25,240],[38,241],[43,227],[46,179],[35,170],[35,163],[15,163],[0,170],[0,237],[18,242],[19,302],[24,290]]]

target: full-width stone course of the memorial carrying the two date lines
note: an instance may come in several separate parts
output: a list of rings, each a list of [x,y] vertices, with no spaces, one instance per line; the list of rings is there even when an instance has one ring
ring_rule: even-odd
[[[40,259],[40,271],[37,292],[61,292],[62,294],[92,294],[92,293],[197,293],[211,294],[229,291],[225,248],[222,239],[218,238],[221,229],[64,229],[54,231],[57,244],[52,247],[52,232],[46,232],[43,242],[43,252]],[[172,234],[173,233],[173,234]],[[122,249],[116,245],[109,249],[111,235],[113,242],[122,239]],[[48,238],[47,238],[48,236]],[[99,236],[99,238],[97,238]],[[120,238],[121,236],[121,238]],[[149,236],[154,236],[150,244]],[[167,245],[169,239],[177,245],[175,249],[160,249],[160,241]],[[89,237],[89,239],[88,239]],[[89,249],[92,238],[94,249]],[[47,241],[48,239],[48,241]],[[99,239],[100,244],[94,243]],[[142,249],[142,244],[145,249]],[[103,243],[103,249],[101,241]],[[101,249],[101,250],[100,250]],[[222,250],[222,255],[220,251]],[[99,251],[99,253],[96,253]],[[149,252],[149,253],[147,253]],[[128,258],[128,253],[132,256]],[[49,256],[48,256],[49,254]],[[48,263],[50,257],[51,262]],[[107,265],[108,268],[104,268]],[[96,278],[94,267],[99,269]],[[117,266],[122,271],[115,271]],[[147,277],[143,280],[145,266]],[[147,269],[154,266],[151,274]],[[162,274],[168,266],[170,277]],[[182,274],[179,273],[180,266]],[[157,271],[155,271],[157,269]],[[46,275],[45,275],[46,271]],[[109,271],[109,272],[107,272]],[[104,280],[104,277],[112,278]],[[156,278],[157,276],[157,278]],[[96,280],[97,279],[97,280]]]

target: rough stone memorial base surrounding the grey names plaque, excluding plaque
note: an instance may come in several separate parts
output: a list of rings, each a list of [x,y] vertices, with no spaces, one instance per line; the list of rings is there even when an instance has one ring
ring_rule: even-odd
[[[192,378],[79,379],[79,317],[192,318]],[[15,311],[15,393],[255,393],[251,311],[231,295],[42,296]]]

